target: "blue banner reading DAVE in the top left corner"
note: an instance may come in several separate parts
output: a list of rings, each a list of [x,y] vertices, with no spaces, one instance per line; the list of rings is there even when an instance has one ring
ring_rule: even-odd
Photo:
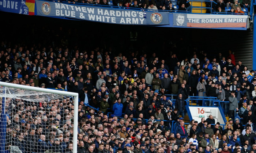
[[[0,0],[0,11],[29,15],[26,0]]]

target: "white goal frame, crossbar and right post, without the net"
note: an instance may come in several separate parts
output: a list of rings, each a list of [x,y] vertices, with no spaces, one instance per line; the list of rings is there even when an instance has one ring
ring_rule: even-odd
[[[61,90],[53,90],[53,89],[45,89],[45,88],[39,88],[39,87],[31,87],[31,86],[25,86],[25,85],[18,85],[14,83],[8,83],[8,82],[0,82],[0,87],[5,88],[6,87],[12,87],[16,89],[24,89],[24,90],[31,90],[31,91],[39,91],[44,93],[51,93],[51,94],[59,94],[59,95],[67,95],[74,97],[74,134],[73,134],[73,153],[77,153],[77,134],[78,134],[78,93],[72,93],[68,91],[61,91]],[[0,127],[0,153],[4,153],[5,151],[5,134],[6,134],[6,115],[5,114],[5,98],[3,97],[2,102],[2,111],[0,116],[0,122],[5,122],[4,124],[1,124]],[[5,127],[4,127],[5,126]]]

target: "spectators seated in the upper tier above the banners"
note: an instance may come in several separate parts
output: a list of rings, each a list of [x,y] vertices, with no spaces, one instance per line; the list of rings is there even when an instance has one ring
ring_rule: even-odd
[[[191,2],[189,0],[112,0],[113,6],[124,9],[150,9],[162,10],[170,12],[191,12]],[[106,7],[109,6],[108,0],[57,0],[56,2],[65,2],[73,4],[89,4],[94,6]],[[214,3],[213,3],[214,2]],[[212,0],[205,2],[206,13],[221,12],[225,14],[244,14],[242,8],[247,8],[250,11],[250,0]],[[228,8],[225,11],[225,8]]]

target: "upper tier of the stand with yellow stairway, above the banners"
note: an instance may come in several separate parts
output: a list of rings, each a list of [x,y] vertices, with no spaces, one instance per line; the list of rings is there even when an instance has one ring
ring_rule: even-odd
[[[221,9],[223,10],[223,12],[227,12],[230,11],[230,9],[227,9],[228,7],[225,7],[225,3],[223,0],[218,0],[218,1],[209,1],[209,0],[194,0],[194,2],[192,1],[184,1],[184,0],[114,0],[114,1],[105,1],[105,0],[58,0],[56,1],[56,3],[69,3],[69,4],[80,4],[80,5],[94,5],[94,6],[98,6],[98,7],[114,7],[114,8],[124,8],[124,9],[148,9],[148,10],[159,10],[159,11],[174,11],[175,12],[182,12],[182,13],[187,13],[187,12],[191,12],[191,5],[193,3],[193,8],[196,9],[197,11],[194,13],[205,13],[206,9],[209,9],[210,11],[208,11],[207,13],[214,13],[214,12],[218,12],[218,6],[221,6]],[[241,1],[242,3],[242,1]],[[169,5],[172,4],[172,5]],[[182,4],[185,5],[184,9],[182,8]],[[235,1],[234,1],[235,4]],[[249,3],[250,6],[251,3]],[[233,3],[230,3],[229,6],[230,8],[232,8]],[[242,7],[244,7],[244,4],[241,4]],[[238,2],[238,4],[236,4],[236,7],[240,7],[240,2]],[[234,10],[236,11],[236,7],[235,5],[233,6]],[[174,8],[174,9],[173,9]],[[180,9],[179,9],[180,8]],[[241,11],[242,12],[238,12],[238,14],[248,14],[248,8],[242,8]],[[224,11],[225,10],[225,11]],[[224,14],[222,12],[222,14]]]

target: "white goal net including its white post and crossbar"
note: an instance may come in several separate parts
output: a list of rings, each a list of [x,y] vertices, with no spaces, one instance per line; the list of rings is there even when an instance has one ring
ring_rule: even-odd
[[[0,152],[77,149],[78,94],[0,82]]]

